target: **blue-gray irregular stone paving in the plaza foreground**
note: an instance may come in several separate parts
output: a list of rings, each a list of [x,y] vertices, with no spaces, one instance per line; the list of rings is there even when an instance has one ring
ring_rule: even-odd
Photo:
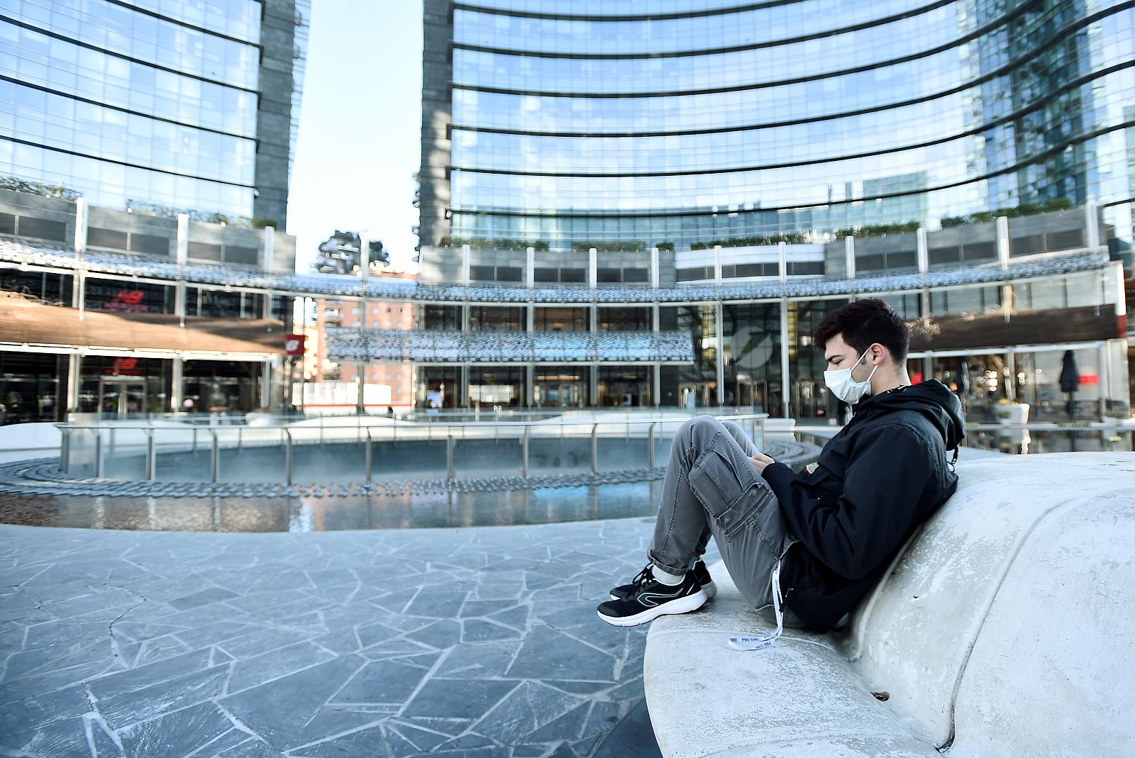
[[[0,527],[0,755],[658,755],[653,519],[287,533]]]

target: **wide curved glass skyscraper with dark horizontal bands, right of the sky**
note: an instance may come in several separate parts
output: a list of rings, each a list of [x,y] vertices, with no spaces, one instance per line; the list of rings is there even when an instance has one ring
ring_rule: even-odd
[[[421,242],[819,242],[1085,202],[1129,238],[1133,22],[1116,0],[426,0]]]

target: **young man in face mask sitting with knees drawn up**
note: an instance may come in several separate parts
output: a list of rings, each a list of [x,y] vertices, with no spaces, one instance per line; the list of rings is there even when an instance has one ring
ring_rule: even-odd
[[[732,422],[692,419],[674,437],[649,563],[599,617],[634,626],[699,608],[716,589],[709,537],[745,599],[783,624],[824,632],[875,584],[914,530],[957,488],[947,450],[961,405],[940,381],[910,385],[906,325],[881,300],[831,313],[815,332],[824,382],[855,406],[805,472],[753,446]]]

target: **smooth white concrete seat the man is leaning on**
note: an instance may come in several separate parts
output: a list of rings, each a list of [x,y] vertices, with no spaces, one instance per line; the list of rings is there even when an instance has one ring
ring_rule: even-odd
[[[730,635],[768,623],[711,567],[717,598],[647,638],[663,753],[1135,755],[1135,454],[959,474],[843,634],[732,650]]]

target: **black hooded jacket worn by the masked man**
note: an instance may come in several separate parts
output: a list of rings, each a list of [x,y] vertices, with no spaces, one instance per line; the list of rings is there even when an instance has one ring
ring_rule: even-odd
[[[947,450],[965,436],[961,404],[935,380],[868,397],[810,473],[764,471],[799,540],[781,565],[784,603],[827,631],[877,582],[914,530],[958,487]]]

